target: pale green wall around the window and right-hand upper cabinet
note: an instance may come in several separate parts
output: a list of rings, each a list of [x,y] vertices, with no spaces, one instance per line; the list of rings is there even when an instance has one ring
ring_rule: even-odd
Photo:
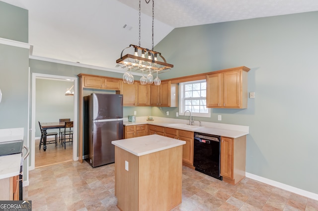
[[[161,79],[251,68],[248,92],[255,99],[248,108],[212,109],[211,118],[201,119],[249,126],[246,171],[316,194],[317,20],[318,12],[307,12],[177,28],[155,48],[174,65]],[[152,115],[169,117],[158,108]]]

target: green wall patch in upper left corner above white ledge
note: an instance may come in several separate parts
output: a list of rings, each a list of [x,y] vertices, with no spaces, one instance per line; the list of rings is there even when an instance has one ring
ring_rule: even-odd
[[[0,38],[28,43],[28,10],[0,1]]]

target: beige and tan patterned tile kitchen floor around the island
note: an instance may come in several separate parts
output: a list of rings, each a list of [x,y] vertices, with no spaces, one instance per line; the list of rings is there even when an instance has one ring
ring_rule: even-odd
[[[32,211],[119,211],[114,164],[70,161],[29,172]],[[318,201],[244,178],[237,185],[183,166],[182,203],[173,211],[318,211]]]

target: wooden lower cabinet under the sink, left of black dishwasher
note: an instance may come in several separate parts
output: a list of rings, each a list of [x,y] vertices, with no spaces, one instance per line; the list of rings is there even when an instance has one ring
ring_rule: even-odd
[[[182,161],[184,165],[193,168],[193,132],[166,127],[165,136],[186,142],[182,145]]]

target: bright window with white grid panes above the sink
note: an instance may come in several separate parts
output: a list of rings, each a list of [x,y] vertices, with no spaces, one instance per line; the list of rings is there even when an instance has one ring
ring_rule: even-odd
[[[210,108],[207,108],[206,80],[180,83],[179,114],[190,110],[192,116],[211,117]]]

